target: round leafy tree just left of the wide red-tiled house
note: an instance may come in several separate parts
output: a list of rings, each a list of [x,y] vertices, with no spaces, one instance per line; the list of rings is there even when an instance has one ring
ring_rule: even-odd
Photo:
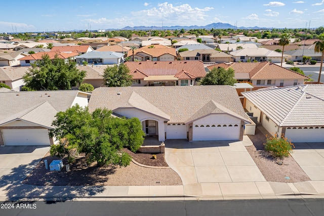
[[[125,64],[107,66],[103,79],[107,87],[128,87],[132,84],[132,75]]]

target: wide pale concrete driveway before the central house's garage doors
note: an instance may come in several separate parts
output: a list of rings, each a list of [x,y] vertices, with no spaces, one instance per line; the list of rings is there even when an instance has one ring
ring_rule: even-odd
[[[266,181],[243,141],[167,140],[165,157],[183,185]]]

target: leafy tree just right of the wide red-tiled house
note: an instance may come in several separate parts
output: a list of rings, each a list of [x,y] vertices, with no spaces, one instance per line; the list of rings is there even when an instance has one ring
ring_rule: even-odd
[[[236,83],[234,69],[228,68],[226,70],[222,67],[213,68],[199,82],[201,85],[234,85],[234,83]]]

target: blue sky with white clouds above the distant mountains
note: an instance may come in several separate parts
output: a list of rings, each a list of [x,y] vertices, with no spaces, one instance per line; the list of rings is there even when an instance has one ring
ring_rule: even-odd
[[[324,25],[324,0],[312,1],[4,1],[0,32],[108,29],[125,26],[311,28]]]

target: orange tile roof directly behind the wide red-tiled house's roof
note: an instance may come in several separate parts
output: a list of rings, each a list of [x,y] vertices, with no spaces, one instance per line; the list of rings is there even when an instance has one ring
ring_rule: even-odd
[[[150,46],[142,47],[140,49],[134,50],[135,54],[145,53],[147,55],[150,55],[151,57],[159,57],[164,54],[170,54],[172,56],[177,56],[176,49],[171,47],[166,47],[163,45],[154,45],[153,48],[149,48]],[[133,51],[129,50],[127,56],[133,56]]]

